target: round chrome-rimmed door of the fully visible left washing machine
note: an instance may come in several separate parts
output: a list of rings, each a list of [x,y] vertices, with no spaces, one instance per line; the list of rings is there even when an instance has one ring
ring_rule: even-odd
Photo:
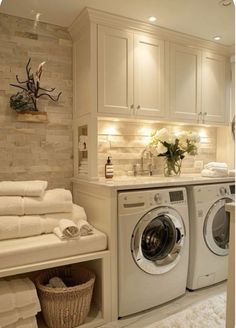
[[[163,274],[180,260],[185,227],[180,214],[169,207],[146,213],[131,238],[131,252],[137,266],[150,274]]]

